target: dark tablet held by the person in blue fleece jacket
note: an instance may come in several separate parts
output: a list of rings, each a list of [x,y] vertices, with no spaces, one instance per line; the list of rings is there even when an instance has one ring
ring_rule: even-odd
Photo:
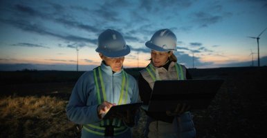
[[[110,117],[112,117],[113,115],[116,115],[117,113],[123,114],[124,112],[127,112],[127,110],[129,110],[129,109],[136,110],[136,109],[140,108],[140,106],[142,106],[142,102],[127,103],[127,104],[121,104],[118,106],[112,106],[109,109],[109,112],[107,112],[107,114],[104,115],[103,119],[109,119]]]

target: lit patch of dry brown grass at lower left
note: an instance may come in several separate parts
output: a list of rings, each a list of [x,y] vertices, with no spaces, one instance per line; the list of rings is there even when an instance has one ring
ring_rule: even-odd
[[[66,117],[67,101],[55,97],[1,97],[0,137],[79,137]]]

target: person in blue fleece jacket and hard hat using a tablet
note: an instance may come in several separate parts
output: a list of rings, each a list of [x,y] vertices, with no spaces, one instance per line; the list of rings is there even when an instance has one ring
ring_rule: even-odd
[[[135,113],[102,119],[111,106],[138,101],[138,84],[122,68],[130,48],[120,32],[108,29],[98,37],[95,51],[102,63],[78,79],[66,106],[68,119],[82,124],[82,137],[131,137]]]

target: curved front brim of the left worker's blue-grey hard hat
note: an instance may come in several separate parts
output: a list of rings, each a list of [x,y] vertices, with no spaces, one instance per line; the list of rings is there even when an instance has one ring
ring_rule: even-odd
[[[128,45],[126,45],[126,48],[124,50],[118,50],[118,51],[110,51],[102,50],[101,48],[96,48],[96,52],[102,53],[105,57],[124,57],[128,55],[131,52],[131,49]]]

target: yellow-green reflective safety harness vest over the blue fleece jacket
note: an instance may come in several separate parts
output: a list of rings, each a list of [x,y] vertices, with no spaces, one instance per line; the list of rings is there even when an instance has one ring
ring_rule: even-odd
[[[104,81],[102,78],[102,72],[100,66],[93,69],[93,77],[95,80],[95,87],[97,90],[98,104],[101,104],[104,101],[107,101],[106,92],[104,89]],[[129,88],[128,75],[125,71],[122,71],[122,86],[120,90],[120,99],[118,105],[125,104],[127,100],[127,91]],[[111,124],[112,122],[112,124]],[[123,124],[121,119],[104,119],[100,122],[100,126],[95,126],[93,124],[86,124],[83,126],[88,132],[92,132],[95,135],[104,136],[105,126],[114,126],[114,135],[120,135],[123,132],[126,132],[129,128]]]

